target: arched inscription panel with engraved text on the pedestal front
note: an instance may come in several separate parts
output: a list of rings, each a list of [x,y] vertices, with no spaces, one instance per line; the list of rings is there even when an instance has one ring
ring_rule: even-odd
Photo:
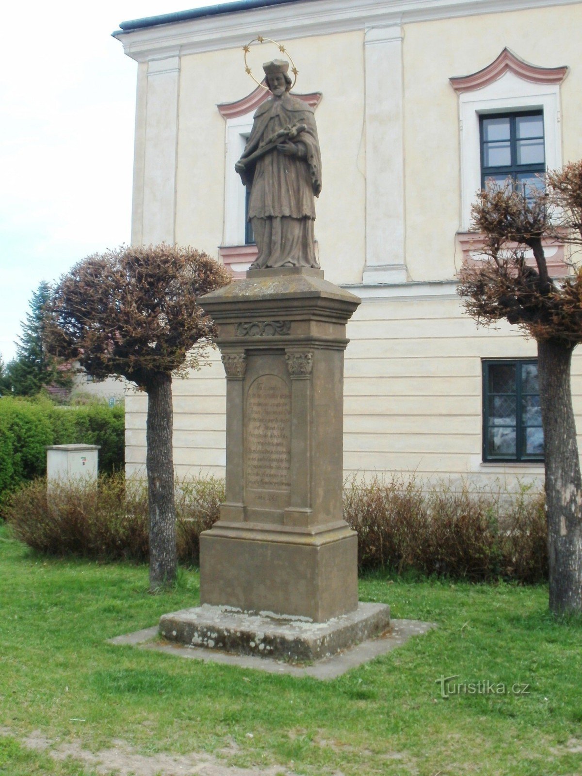
[[[291,395],[285,380],[262,375],[251,384],[244,419],[248,506],[284,509],[291,487]]]

